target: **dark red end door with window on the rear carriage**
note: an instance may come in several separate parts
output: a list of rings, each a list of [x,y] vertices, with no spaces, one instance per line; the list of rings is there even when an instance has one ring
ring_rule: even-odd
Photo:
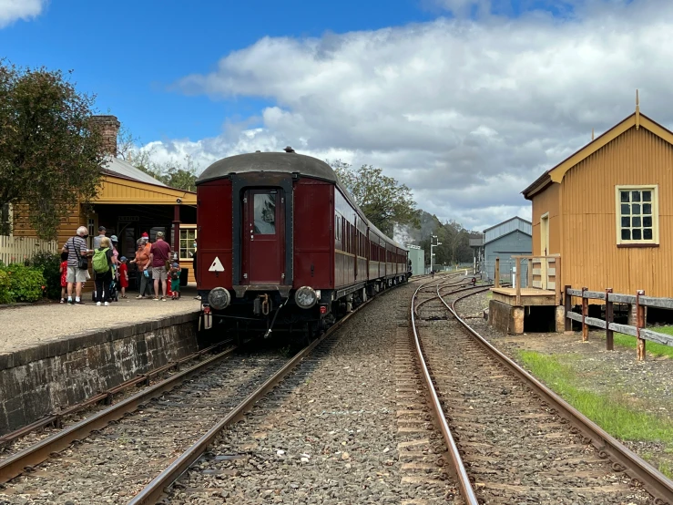
[[[283,281],[284,200],[281,190],[246,191],[242,229],[243,273],[248,274],[248,283]]]

